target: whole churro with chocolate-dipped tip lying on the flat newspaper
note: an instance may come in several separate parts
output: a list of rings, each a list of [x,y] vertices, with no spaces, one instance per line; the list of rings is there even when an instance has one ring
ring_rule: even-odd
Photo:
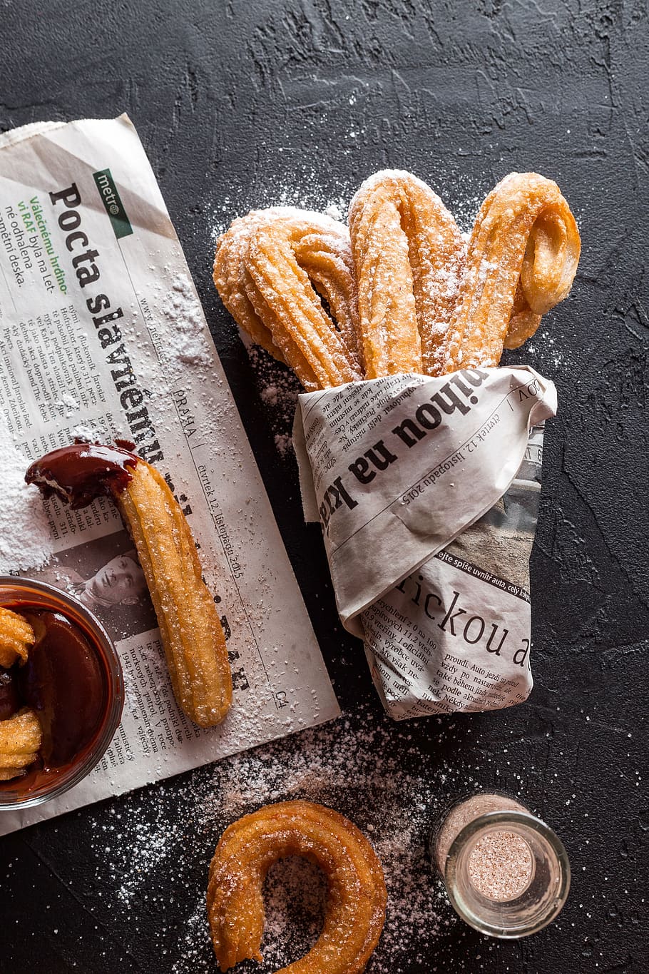
[[[124,446],[75,443],[32,464],[25,480],[73,507],[113,498],[149,586],[178,704],[200,727],[220,723],[233,692],[225,636],[185,515],[158,470]]]

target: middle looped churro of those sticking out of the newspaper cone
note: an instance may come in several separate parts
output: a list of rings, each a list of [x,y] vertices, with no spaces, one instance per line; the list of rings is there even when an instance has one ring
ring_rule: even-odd
[[[440,198],[411,172],[370,176],[349,205],[365,378],[441,374],[465,246]]]

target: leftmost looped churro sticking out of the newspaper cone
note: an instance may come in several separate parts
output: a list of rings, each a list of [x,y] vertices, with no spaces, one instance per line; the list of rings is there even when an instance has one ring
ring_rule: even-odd
[[[254,210],[219,238],[214,283],[237,324],[288,363],[306,390],[362,378],[356,284],[342,223],[291,207]]]

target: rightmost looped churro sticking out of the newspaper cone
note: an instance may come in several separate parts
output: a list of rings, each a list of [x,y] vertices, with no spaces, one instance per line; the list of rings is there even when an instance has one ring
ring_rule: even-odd
[[[493,366],[568,294],[581,242],[559,186],[512,172],[489,193],[471,234],[443,372]]]

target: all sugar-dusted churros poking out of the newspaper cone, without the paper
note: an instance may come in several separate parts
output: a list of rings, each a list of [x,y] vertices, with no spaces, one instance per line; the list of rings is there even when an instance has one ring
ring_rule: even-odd
[[[567,295],[579,253],[559,186],[534,172],[499,182],[465,241],[429,186],[385,170],[354,196],[348,229],[291,207],[234,220],[214,282],[237,324],[310,392],[497,365]]]

